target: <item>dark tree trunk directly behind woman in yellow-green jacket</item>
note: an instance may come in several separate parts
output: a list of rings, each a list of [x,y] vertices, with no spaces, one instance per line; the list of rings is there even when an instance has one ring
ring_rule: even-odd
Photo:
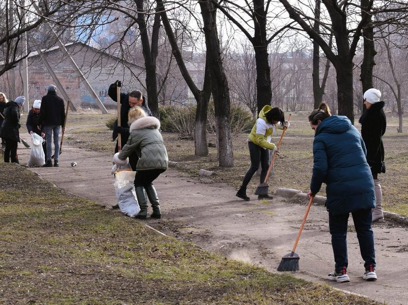
[[[266,12],[264,0],[253,0],[254,4],[254,39],[252,41],[256,62],[256,103],[258,114],[265,105],[271,105],[271,69],[268,58],[266,31]]]

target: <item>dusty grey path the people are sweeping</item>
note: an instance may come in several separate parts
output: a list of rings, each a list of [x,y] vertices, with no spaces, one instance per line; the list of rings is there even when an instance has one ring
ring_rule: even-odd
[[[26,164],[30,150],[19,148],[19,160]],[[71,167],[71,162],[77,166]],[[111,156],[78,147],[64,146],[59,168],[31,168],[42,178],[73,194],[109,208],[116,204]],[[293,247],[307,202],[283,197],[251,201],[235,197],[236,190],[221,182],[184,176],[169,169],[155,182],[163,218],[145,223],[165,234],[191,240],[202,249],[228,258],[264,266],[271,272]],[[119,211],[120,212],[120,211]],[[136,220],[135,220],[136,221]],[[349,223],[348,273],[350,283],[333,283],[326,275],[333,270],[333,254],[327,212],[313,205],[296,252],[300,271],[296,277],[332,285],[389,304],[405,304],[408,283],[404,269],[408,258],[407,228],[386,221],[373,227],[377,282],[362,279],[363,261],[353,223]]]

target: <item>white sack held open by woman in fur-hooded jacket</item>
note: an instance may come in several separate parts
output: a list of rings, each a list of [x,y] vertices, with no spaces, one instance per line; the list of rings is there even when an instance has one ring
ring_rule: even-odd
[[[134,171],[123,170],[116,172],[115,175],[116,199],[118,199],[118,205],[122,213],[129,217],[136,216],[140,211],[133,184],[135,174]]]

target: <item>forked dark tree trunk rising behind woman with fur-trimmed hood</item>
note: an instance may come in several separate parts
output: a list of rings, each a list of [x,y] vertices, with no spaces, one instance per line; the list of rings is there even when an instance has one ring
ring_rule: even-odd
[[[147,31],[146,21],[144,19],[145,14],[143,9],[143,0],[135,0],[139,13],[137,14],[137,23],[139,26],[140,40],[142,45],[142,52],[144,58],[144,66],[146,69],[146,87],[148,90],[148,105],[153,115],[159,117],[159,100],[157,96],[157,79],[156,79],[156,55],[157,49],[153,46],[157,46],[158,35],[152,35],[152,49],[149,43],[149,35]],[[154,27],[160,25],[160,15],[156,15]]]

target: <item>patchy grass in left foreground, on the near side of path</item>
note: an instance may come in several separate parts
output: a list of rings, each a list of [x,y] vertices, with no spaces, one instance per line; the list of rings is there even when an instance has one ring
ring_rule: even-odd
[[[17,165],[0,170],[5,303],[375,303],[162,236]]]

